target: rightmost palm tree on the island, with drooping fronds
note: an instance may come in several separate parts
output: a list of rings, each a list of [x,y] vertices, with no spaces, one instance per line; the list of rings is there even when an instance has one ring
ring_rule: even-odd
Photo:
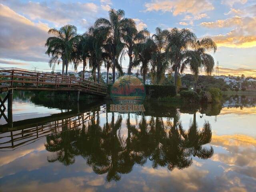
[[[196,91],[199,69],[204,68],[207,75],[213,72],[214,58],[206,52],[213,50],[215,53],[217,45],[211,38],[203,38],[201,41],[197,40],[194,42],[193,48],[193,53],[196,55],[197,59],[188,58],[188,62],[184,62],[184,66],[188,64],[191,72],[194,74],[194,90]],[[182,68],[184,66],[182,66]]]

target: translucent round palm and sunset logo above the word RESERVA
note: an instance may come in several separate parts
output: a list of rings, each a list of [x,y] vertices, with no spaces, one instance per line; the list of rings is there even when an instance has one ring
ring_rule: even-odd
[[[114,104],[142,104],[146,89],[136,76],[120,76],[113,84],[110,97]]]

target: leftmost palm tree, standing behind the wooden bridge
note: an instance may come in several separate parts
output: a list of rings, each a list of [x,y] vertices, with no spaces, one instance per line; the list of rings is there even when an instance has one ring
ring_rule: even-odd
[[[62,74],[64,74],[64,67],[66,66],[66,74],[68,73],[68,63],[72,60],[72,50],[74,48],[74,43],[78,41],[78,36],[76,34],[76,26],[65,25],[57,30],[51,28],[48,34],[53,35],[46,40],[45,46],[48,46],[46,54],[51,55],[49,60],[49,66],[55,68],[56,64],[60,63],[62,60]]]

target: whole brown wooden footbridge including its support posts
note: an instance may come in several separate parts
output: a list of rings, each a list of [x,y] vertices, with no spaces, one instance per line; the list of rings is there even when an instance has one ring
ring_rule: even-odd
[[[12,124],[13,90],[75,91],[79,101],[80,92],[106,96],[107,86],[74,76],[33,72],[16,68],[1,69],[0,93],[8,91],[8,94],[3,99],[0,96],[0,118],[3,116],[9,124]],[[4,114],[6,100],[8,100],[8,117]]]

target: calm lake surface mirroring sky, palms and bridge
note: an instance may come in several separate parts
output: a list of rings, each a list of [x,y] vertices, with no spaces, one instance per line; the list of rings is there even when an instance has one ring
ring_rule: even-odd
[[[120,114],[14,92],[12,126],[0,119],[0,191],[256,191],[255,104],[224,96]]]

